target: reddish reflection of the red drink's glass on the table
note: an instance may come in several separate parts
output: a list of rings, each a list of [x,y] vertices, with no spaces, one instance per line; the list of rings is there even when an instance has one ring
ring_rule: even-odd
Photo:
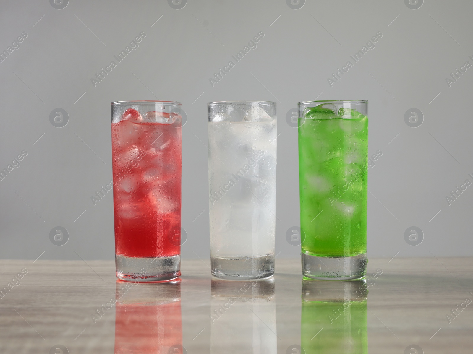
[[[115,301],[115,354],[182,354],[181,279],[117,280]]]

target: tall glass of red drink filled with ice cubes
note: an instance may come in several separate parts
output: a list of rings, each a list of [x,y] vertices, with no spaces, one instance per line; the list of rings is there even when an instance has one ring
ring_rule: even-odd
[[[181,275],[179,102],[112,102],[115,265],[119,279]]]

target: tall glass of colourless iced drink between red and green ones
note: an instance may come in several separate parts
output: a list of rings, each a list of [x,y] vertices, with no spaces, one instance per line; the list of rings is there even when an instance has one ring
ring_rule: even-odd
[[[212,275],[258,279],[274,274],[276,104],[208,104]]]

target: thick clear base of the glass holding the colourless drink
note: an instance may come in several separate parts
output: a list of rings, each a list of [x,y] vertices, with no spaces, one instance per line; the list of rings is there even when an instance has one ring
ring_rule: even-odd
[[[211,257],[212,275],[220,279],[252,280],[274,274],[274,254],[247,258]]]

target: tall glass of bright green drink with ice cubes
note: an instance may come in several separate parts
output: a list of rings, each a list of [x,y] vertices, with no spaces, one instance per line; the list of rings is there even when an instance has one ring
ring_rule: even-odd
[[[302,273],[366,275],[368,101],[299,102]]]

